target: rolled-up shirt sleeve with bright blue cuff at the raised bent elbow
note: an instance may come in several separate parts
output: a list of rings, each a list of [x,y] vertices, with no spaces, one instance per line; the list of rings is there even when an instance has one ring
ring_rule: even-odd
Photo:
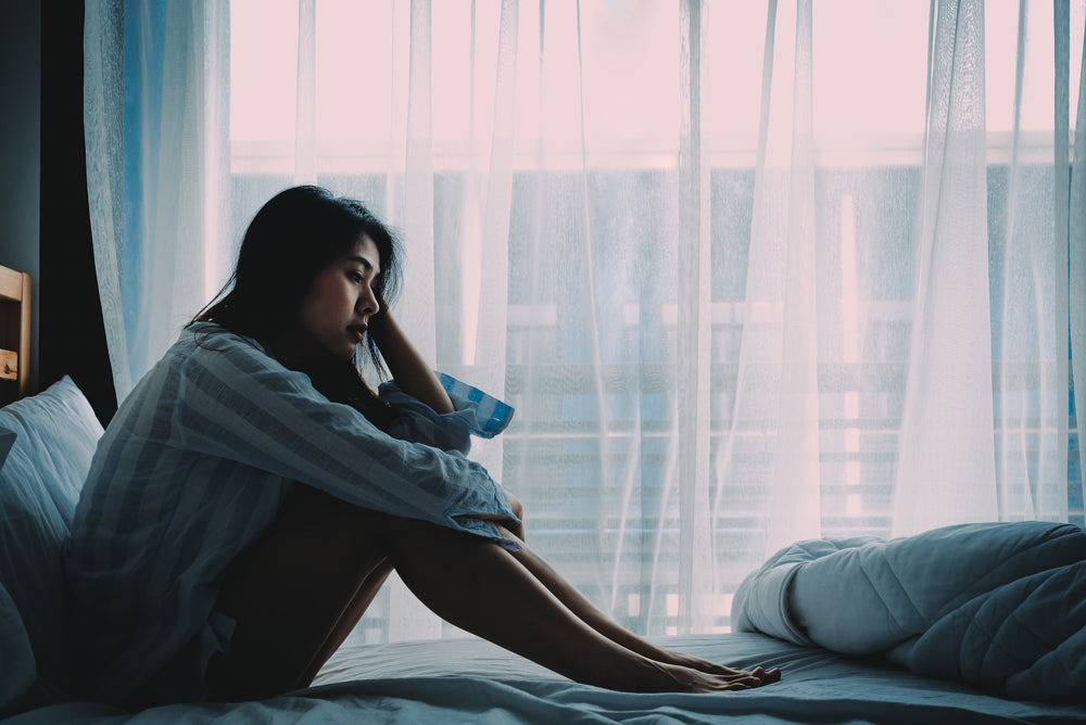
[[[390,435],[466,456],[471,449],[472,435],[492,438],[513,420],[510,406],[478,387],[441,372],[438,380],[453,402],[454,412],[438,414],[404,393],[394,382],[381,384],[378,389],[381,399],[396,414],[389,428]]]

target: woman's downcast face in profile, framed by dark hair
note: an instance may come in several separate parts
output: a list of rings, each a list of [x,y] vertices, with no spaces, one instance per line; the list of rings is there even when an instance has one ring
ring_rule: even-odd
[[[353,357],[369,318],[380,309],[371,287],[380,271],[377,245],[362,237],[313,279],[299,310],[295,334],[285,341],[290,349],[280,345],[277,353],[295,361]]]

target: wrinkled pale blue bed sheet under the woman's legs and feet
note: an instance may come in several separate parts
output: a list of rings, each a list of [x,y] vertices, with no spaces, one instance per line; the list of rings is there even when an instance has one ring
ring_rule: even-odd
[[[237,704],[126,713],[52,705],[10,725],[48,723],[1086,723],[1086,707],[1011,700],[758,634],[670,637],[667,647],[729,664],[780,666],[784,679],[723,695],[627,695],[577,685],[476,639],[345,647],[315,687]],[[9,725],[9,723],[5,723]]]

